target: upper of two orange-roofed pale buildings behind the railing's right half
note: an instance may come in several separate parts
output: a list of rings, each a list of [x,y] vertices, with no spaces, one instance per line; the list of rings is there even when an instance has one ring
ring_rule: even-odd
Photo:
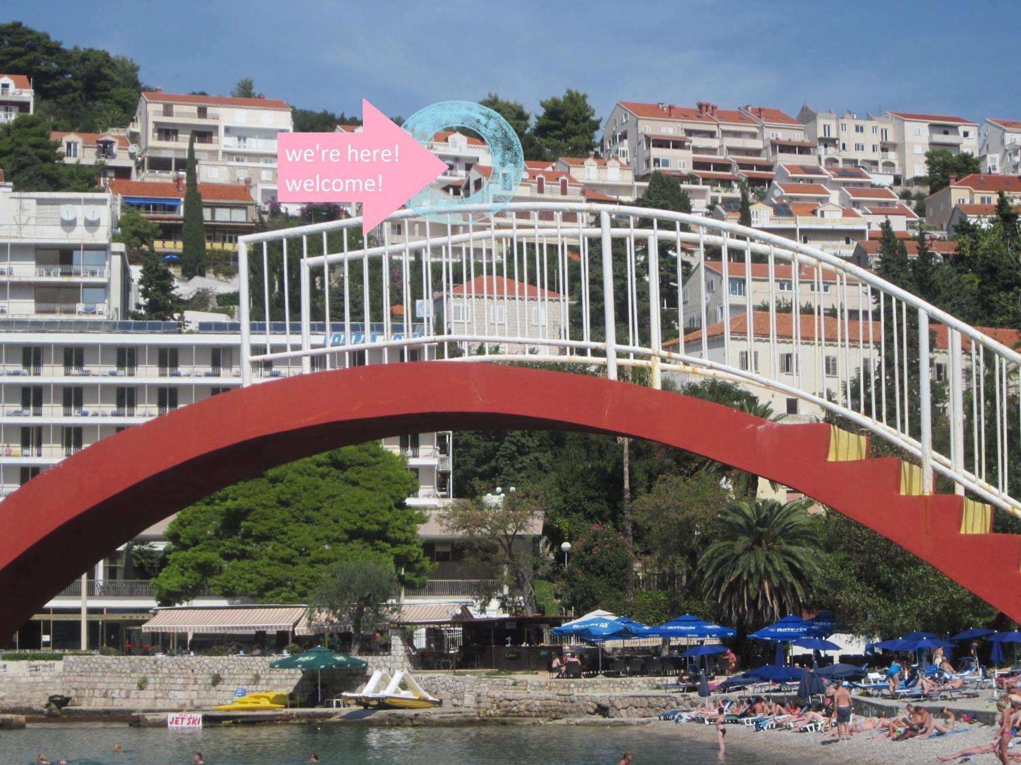
[[[850,248],[852,251],[854,247]],[[733,253],[731,254],[733,257]],[[741,258],[743,253],[737,257]],[[744,260],[724,263],[720,260],[706,261],[706,293],[702,296],[701,264],[695,267],[684,279],[681,286],[681,299],[684,303],[684,326],[687,330],[697,329],[702,325],[702,303],[706,305],[706,322],[713,324],[723,321],[729,315],[731,318],[747,312],[748,290],[750,286],[751,310],[762,305],[769,305],[770,280],[768,263],[751,263],[751,271],[745,278]],[[726,266],[726,279],[724,267]],[[805,305],[817,302],[823,310],[836,308],[843,302],[841,289],[837,285],[836,272],[829,269],[821,271],[821,298],[816,296],[816,271],[809,266],[800,266],[797,272],[797,303]],[[773,300],[779,303],[794,302],[794,273],[789,263],[777,262],[773,270]],[[858,280],[847,278],[847,303],[854,310],[857,307]]]

